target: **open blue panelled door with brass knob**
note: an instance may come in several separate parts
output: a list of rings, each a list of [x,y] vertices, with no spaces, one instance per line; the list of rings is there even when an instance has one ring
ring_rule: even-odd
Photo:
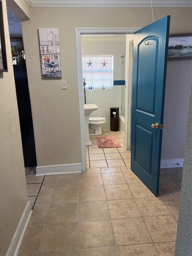
[[[159,192],[170,16],[134,33],[131,170]]]

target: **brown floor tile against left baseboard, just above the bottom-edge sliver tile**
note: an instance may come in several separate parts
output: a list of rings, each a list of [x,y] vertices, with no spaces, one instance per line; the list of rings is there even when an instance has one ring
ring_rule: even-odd
[[[44,225],[28,226],[19,253],[38,252]]]

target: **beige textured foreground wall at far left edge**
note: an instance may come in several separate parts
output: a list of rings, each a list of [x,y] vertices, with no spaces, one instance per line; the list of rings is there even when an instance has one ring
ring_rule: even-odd
[[[0,255],[4,256],[27,203],[6,2],[3,0],[8,72],[0,72]]]

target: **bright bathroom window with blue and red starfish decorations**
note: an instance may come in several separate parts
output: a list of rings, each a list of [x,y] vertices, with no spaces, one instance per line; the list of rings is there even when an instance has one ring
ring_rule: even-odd
[[[113,89],[113,56],[82,56],[85,89]]]

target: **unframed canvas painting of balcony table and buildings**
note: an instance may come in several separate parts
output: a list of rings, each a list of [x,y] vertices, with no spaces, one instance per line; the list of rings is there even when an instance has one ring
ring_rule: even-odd
[[[62,77],[59,29],[39,28],[43,77]]]

